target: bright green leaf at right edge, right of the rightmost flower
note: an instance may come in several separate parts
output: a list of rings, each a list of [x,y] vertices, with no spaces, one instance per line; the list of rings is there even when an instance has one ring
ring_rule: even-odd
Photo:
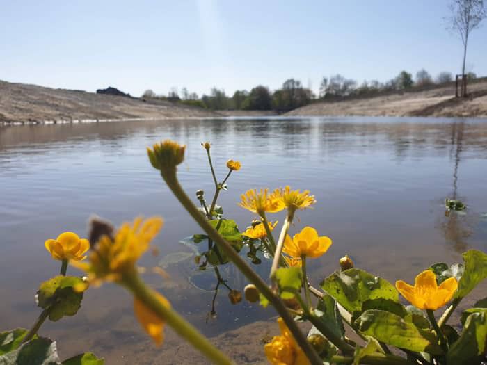
[[[458,282],[454,298],[464,298],[477,284],[487,278],[487,254],[477,250],[468,250],[463,255],[465,271]]]

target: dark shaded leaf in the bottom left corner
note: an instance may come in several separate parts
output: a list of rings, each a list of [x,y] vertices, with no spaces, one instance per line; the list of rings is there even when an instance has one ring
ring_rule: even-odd
[[[61,365],[61,361],[56,342],[40,337],[0,355],[0,365]]]

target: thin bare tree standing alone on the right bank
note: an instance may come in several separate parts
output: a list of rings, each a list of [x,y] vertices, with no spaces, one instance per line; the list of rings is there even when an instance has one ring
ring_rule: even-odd
[[[479,27],[482,20],[487,17],[484,0],[452,0],[449,5],[452,15],[445,18],[449,29],[460,34],[463,42],[462,74],[465,74],[465,60],[467,58],[467,44],[470,32]]]

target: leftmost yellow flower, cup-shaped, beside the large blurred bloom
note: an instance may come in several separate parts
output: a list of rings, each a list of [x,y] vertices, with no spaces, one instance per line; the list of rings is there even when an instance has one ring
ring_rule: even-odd
[[[64,232],[55,240],[45,241],[44,245],[55,260],[81,261],[86,259],[83,254],[90,249],[90,242],[73,232]]]

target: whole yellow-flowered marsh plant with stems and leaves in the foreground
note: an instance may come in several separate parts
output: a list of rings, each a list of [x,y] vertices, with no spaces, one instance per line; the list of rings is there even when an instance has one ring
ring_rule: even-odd
[[[239,205],[258,219],[241,232],[217,202],[219,194],[228,189],[232,172],[241,173],[242,165],[228,160],[227,175],[219,181],[211,143],[202,146],[215,186],[209,204],[205,191],[196,191],[198,204],[194,204],[179,184],[177,165],[184,161],[184,145],[166,140],[148,148],[147,154],[202,231],[186,241],[198,248],[198,269],[213,270],[216,275],[211,315],[216,314],[219,286],[228,290],[233,305],[243,300],[241,290],[230,287],[218,270],[223,264],[233,265],[245,275],[246,300],[260,302],[269,311],[273,308],[278,315],[280,334],[262,348],[271,364],[479,365],[486,359],[487,298],[463,309],[460,323],[448,324],[463,298],[487,278],[486,253],[469,250],[463,254],[463,263],[435,263],[417,275],[414,285],[399,280],[395,286],[354,267],[351,257],[345,255],[340,268],[316,286],[307,273],[308,260],[320,260],[332,240],[319,236],[314,227],[289,234],[296,213],[317,205],[314,196],[308,190],[289,186],[250,189],[241,195]],[[446,206],[461,208],[448,200]],[[278,211],[285,211],[286,216],[276,239],[273,234],[278,222],[267,215]],[[36,364],[103,364],[103,359],[90,353],[61,362],[56,343],[38,336],[38,332],[48,318],[58,321],[77,314],[83,293],[107,281],[129,291],[135,317],[157,345],[163,344],[163,330],[168,325],[214,364],[232,364],[225,349],[216,348],[171,307],[163,293],[144,282],[137,263],[162,225],[159,217],[136,218],[115,229],[110,222],[95,218],[90,225],[89,245],[87,239],[72,232],[47,240],[45,247],[52,258],[61,260],[61,274],[40,284],[37,301],[43,310],[31,330],[0,333],[0,364],[30,364],[34,360]],[[340,250],[340,243],[335,242],[333,247]],[[266,259],[271,264],[269,277],[261,277],[255,265]],[[83,270],[86,277],[67,276],[68,263]],[[161,268],[154,271],[166,275]],[[311,330],[303,332],[298,322],[309,322]],[[353,339],[351,333],[355,334]]]

